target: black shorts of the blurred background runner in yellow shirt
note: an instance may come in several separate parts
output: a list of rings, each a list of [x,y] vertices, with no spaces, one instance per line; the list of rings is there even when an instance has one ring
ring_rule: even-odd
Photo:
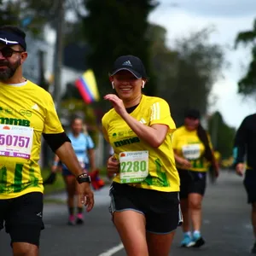
[[[180,198],[188,198],[191,193],[205,195],[207,188],[207,172],[193,172],[178,169],[180,177]]]

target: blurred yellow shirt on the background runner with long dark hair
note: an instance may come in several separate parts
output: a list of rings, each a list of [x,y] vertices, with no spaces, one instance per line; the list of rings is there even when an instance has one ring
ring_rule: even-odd
[[[209,136],[208,136],[209,137]],[[211,140],[209,137],[210,147]],[[209,163],[203,156],[205,146],[197,136],[197,131],[188,131],[185,126],[177,128],[172,136],[172,148],[176,154],[191,162],[190,171],[207,172]],[[177,168],[180,166],[177,164]]]

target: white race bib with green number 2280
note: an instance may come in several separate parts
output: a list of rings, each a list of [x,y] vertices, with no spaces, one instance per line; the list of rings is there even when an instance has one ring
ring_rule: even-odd
[[[119,154],[121,183],[141,183],[148,177],[148,151]]]

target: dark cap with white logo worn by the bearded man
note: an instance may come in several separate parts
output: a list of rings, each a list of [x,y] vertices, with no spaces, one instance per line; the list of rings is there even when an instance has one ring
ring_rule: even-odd
[[[6,45],[20,44],[20,46],[26,50],[25,38],[23,38],[18,33],[7,31],[4,29],[1,30],[1,28],[0,28],[0,43],[6,44]]]

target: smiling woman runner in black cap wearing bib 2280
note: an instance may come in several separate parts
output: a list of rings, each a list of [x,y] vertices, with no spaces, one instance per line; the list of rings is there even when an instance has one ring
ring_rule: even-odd
[[[181,224],[171,142],[176,126],[166,101],[142,94],[147,75],[139,58],[120,56],[110,81],[118,96],[104,96],[113,108],[102,126],[114,151],[108,174],[117,173],[110,189],[113,224],[127,255],[167,256]]]

